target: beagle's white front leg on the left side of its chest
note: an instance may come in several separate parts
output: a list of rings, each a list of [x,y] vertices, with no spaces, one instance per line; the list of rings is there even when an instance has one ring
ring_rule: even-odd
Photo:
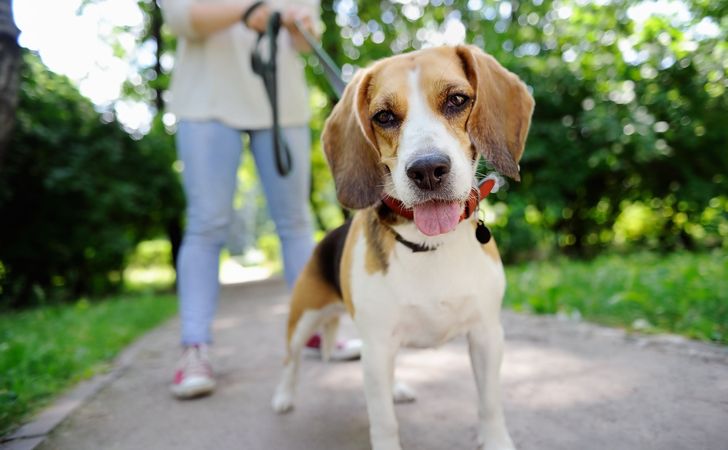
[[[361,329],[360,329],[361,330]],[[361,334],[364,395],[373,450],[400,450],[399,426],[392,397],[394,358],[398,345],[391,333]]]

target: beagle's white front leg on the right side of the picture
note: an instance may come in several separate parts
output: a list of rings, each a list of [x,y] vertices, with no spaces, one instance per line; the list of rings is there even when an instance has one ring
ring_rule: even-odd
[[[513,450],[501,402],[500,366],[503,327],[500,321],[480,323],[468,332],[470,362],[478,387],[478,448]]]

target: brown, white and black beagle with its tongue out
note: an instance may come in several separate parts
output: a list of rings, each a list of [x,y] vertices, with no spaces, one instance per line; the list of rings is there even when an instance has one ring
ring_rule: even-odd
[[[305,342],[320,331],[326,358],[348,311],[362,340],[374,450],[401,448],[393,403],[414,399],[394,381],[397,350],[462,334],[479,448],[514,448],[499,380],[505,275],[473,213],[481,156],[520,179],[533,107],[526,85],[473,46],[415,51],[356,73],[322,140],[339,201],[359,211],[319,243],[293,289],[275,411],[293,408]]]

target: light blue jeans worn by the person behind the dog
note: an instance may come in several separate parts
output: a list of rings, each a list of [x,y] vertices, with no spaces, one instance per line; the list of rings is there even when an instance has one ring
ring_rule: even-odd
[[[293,159],[293,170],[285,177],[276,170],[271,130],[247,133],[291,287],[314,246],[308,207],[310,131],[307,127],[283,130]],[[210,343],[220,291],[220,250],[233,214],[241,132],[217,121],[181,121],[176,139],[187,196],[187,226],[177,261],[182,343]]]

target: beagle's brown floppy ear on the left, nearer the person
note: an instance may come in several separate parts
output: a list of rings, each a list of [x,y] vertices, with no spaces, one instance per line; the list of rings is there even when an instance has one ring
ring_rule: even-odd
[[[322,142],[336,183],[336,196],[347,208],[361,209],[381,198],[384,166],[369,120],[370,70],[359,70],[326,120]]]

